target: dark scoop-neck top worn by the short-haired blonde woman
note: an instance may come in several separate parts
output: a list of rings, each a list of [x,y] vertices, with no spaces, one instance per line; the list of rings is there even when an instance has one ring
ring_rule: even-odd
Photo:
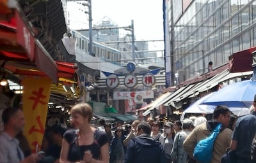
[[[75,162],[83,160],[83,155],[86,150],[90,150],[93,159],[99,160],[101,146],[108,143],[106,132],[95,130],[93,133],[94,141],[92,145],[79,145],[77,141],[77,133],[78,130],[71,129],[63,135],[64,139],[69,144],[68,161]]]

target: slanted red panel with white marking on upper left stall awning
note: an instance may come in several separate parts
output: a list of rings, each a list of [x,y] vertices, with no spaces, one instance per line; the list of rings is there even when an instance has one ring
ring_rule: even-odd
[[[31,62],[33,62],[35,58],[35,38],[31,29],[24,23],[17,11],[15,15],[17,20],[17,41],[24,48]]]

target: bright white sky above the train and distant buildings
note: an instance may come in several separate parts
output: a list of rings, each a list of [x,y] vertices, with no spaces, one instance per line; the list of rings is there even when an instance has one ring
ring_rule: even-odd
[[[85,1],[67,3],[70,29],[88,29]],[[80,4],[79,4],[80,3]],[[118,27],[127,27],[134,21],[136,41],[163,40],[163,1],[161,0],[92,0],[92,24],[108,17]],[[163,49],[163,43],[150,43]],[[151,47],[152,48],[152,47]]]

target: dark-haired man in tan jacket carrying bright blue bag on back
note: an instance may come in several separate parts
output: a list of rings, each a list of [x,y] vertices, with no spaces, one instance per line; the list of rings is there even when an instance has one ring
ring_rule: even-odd
[[[207,138],[218,124],[222,124],[221,131],[214,141],[212,159],[210,163],[220,162],[221,157],[225,154],[226,149],[230,146],[232,131],[227,128],[230,118],[230,110],[227,106],[217,106],[213,112],[212,120],[204,122],[193,129],[184,141],[184,150],[189,157],[193,158],[196,144]]]

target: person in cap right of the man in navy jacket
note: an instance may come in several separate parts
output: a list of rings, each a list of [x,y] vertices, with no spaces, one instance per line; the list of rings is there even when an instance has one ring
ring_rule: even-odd
[[[164,153],[166,160],[171,162],[171,151],[173,146],[173,123],[172,122],[165,122],[164,123]]]

